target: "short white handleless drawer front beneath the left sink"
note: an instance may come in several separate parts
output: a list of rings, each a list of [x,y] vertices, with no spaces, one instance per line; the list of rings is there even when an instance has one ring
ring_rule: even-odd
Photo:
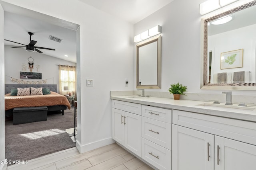
[[[141,115],[141,104],[113,100],[112,107],[130,113],[135,113],[137,115]]]

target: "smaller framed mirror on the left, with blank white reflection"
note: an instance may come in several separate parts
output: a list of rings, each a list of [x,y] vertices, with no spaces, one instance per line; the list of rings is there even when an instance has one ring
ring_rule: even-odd
[[[136,45],[136,88],[161,88],[161,35]]]

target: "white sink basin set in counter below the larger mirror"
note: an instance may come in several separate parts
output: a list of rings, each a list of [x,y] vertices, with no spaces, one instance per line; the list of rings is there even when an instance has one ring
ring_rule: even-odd
[[[212,103],[203,103],[203,104],[198,104],[196,106],[204,106],[207,108],[223,108],[223,109],[232,109],[232,111],[242,111],[242,110],[248,110],[248,111],[253,111],[256,109],[256,107],[253,106],[238,106],[238,105],[225,105],[225,104],[212,104]]]

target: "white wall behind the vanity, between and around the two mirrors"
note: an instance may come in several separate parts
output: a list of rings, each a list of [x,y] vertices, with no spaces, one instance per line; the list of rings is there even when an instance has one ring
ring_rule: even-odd
[[[201,15],[199,14],[199,4],[204,1],[174,0],[164,8],[134,24],[134,36],[155,25],[162,26],[162,88],[148,91],[167,92],[170,84],[176,82],[188,86],[189,93],[221,94],[224,91],[200,89]],[[135,53],[134,58],[136,58]],[[136,63],[134,63],[134,67],[135,65]],[[236,90],[233,91],[233,94],[255,95],[256,91]]]

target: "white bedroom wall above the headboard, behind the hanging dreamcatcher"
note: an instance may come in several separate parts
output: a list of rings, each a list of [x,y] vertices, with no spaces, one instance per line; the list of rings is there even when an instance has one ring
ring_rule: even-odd
[[[37,72],[36,65],[40,65],[39,72],[42,73],[42,80],[47,80],[46,84],[57,84],[59,88],[59,67],[57,65],[69,65],[76,66],[76,63],[70,61],[58,59],[44,55],[43,53],[30,53],[24,48],[10,48],[12,46],[5,45],[5,83],[16,84],[12,82],[10,77],[17,78],[19,80],[37,81],[38,79],[20,79],[20,72],[22,71],[22,64],[28,65],[28,58],[31,56],[34,59],[34,69],[32,72]],[[30,70],[27,67],[27,72]],[[59,89],[58,89],[59,90]],[[59,91],[58,91],[59,92]]]

